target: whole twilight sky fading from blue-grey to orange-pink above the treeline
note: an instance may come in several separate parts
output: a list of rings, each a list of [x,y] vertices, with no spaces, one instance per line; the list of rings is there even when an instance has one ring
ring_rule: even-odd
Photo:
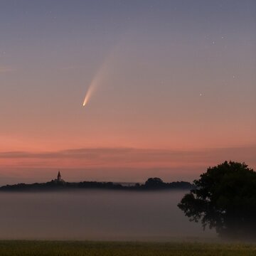
[[[256,1],[0,3],[1,184],[256,168]]]

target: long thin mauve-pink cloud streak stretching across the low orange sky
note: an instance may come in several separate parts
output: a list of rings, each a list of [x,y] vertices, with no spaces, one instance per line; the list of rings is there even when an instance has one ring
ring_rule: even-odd
[[[211,161],[212,159],[241,159],[253,161],[256,146],[198,151],[168,149],[95,148],[67,149],[51,152],[9,151],[0,152],[0,159],[84,159],[91,161],[152,162],[152,161]],[[254,161],[255,162],[255,161]]]

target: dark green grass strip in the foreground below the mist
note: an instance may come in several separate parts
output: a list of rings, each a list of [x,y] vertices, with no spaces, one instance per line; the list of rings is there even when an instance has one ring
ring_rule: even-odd
[[[256,244],[201,242],[0,241],[0,255],[256,255]]]

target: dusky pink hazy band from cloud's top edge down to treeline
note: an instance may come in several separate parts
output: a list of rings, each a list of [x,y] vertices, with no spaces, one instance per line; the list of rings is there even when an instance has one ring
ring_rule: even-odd
[[[168,149],[95,148],[51,152],[0,152],[0,183],[46,181],[58,169],[67,181],[139,181],[159,176],[165,181],[193,181],[209,166],[227,160],[245,161],[256,170],[256,145],[248,147],[176,151]],[[43,179],[44,177],[44,179]]]

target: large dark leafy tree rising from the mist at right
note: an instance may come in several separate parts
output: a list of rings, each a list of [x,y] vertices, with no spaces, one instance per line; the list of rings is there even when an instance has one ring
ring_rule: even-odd
[[[256,238],[256,172],[245,163],[225,161],[193,182],[178,203],[191,221],[230,238]]]

